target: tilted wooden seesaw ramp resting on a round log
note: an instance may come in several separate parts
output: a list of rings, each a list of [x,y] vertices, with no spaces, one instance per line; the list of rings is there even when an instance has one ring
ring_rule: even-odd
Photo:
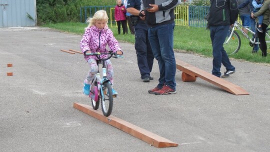
[[[176,60],[176,68],[182,71],[182,81],[195,81],[196,77],[200,77],[232,94],[248,95],[249,93],[243,88],[226,81],[222,78],[212,75],[204,70],[201,70],[193,65],[185,63],[179,59]]]

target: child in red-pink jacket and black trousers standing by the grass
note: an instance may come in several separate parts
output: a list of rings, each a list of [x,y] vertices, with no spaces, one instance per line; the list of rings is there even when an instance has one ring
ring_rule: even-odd
[[[114,8],[114,18],[117,22],[118,34],[121,33],[121,25],[120,24],[122,24],[123,34],[125,34],[125,29],[126,29],[125,13],[126,13],[126,9],[125,9],[124,5],[122,4],[122,0],[116,0],[116,6]]]

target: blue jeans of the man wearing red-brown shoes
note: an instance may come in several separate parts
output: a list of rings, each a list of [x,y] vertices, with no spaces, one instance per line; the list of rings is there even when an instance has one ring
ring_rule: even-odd
[[[158,61],[159,83],[161,88],[164,84],[175,90],[176,63],[173,52],[173,29],[174,23],[157,25],[148,28],[149,41],[153,55]]]

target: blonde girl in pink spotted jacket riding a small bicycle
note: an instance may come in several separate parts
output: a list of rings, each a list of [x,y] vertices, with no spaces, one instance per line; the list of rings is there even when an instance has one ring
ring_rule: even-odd
[[[116,54],[121,55],[123,52],[118,41],[113,36],[112,31],[108,28],[108,16],[105,10],[98,10],[94,13],[92,18],[88,18],[88,26],[85,28],[85,32],[80,41],[80,49],[84,54],[84,59],[88,62],[90,70],[84,80],[83,93],[89,95],[90,84],[95,74],[98,71],[96,63],[97,57],[91,55],[85,55],[85,53],[91,52],[108,52],[106,45]],[[100,55],[101,58],[106,57],[105,54]],[[105,61],[107,68],[107,78],[113,84],[113,68],[110,60]],[[112,94],[117,95],[117,92],[112,88]]]

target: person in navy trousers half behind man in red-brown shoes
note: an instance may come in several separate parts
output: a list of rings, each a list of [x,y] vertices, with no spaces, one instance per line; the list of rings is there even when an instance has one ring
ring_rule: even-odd
[[[140,0],[127,0],[127,11],[132,14],[131,22],[135,29],[135,50],[140,78],[143,82],[153,79],[150,76],[153,66],[153,52],[148,40],[148,26],[139,18]]]

